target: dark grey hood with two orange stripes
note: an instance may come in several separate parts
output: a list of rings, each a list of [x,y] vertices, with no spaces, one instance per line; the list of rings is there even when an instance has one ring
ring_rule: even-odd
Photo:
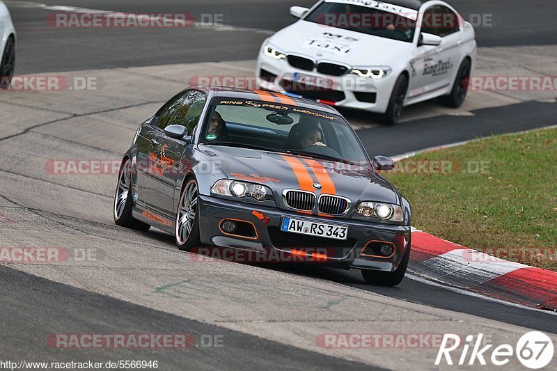
[[[283,189],[304,189],[299,177],[306,177],[306,187],[320,182],[324,186],[322,191],[334,189],[336,195],[350,198],[352,205],[364,200],[399,203],[398,194],[389,182],[359,166],[246,148],[201,145],[200,150],[209,155],[228,178],[265,184],[272,189],[275,199],[281,198]],[[294,165],[296,171],[292,163],[299,164]],[[315,193],[319,195],[319,191]]]

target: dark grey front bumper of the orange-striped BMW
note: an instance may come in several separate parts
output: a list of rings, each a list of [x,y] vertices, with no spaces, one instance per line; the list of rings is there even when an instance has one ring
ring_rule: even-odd
[[[280,229],[283,216],[296,219],[311,219],[322,223],[336,223],[348,226],[348,240],[352,246],[345,246],[343,253],[330,255],[322,262],[332,265],[345,265],[358,269],[375,269],[381,271],[395,270],[409,248],[410,227],[396,226],[382,223],[367,223],[352,219],[331,219],[322,216],[297,214],[275,207],[261,207],[249,203],[240,203],[233,200],[215,198],[212,196],[199,196],[199,216],[201,242],[210,246],[226,248],[242,248],[261,253],[270,250],[290,253],[293,246],[288,248],[274,246],[276,230]],[[223,219],[236,219],[253,224],[256,228],[256,237],[231,237],[219,228]],[[272,232],[273,231],[273,232]],[[301,235],[286,233],[292,241],[303,239]],[[370,241],[389,242],[394,244],[395,252],[389,258],[372,258],[362,256],[361,250]],[[345,243],[347,243],[345,242]],[[295,242],[294,242],[295,243]],[[334,246],[331,240],[331,247]],[[300,246],[302,247],[302,246]]]

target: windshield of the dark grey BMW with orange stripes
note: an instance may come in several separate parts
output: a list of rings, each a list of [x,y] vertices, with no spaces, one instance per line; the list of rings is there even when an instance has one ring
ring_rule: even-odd
[[[260,100],[214,98],[199,143],[290,152],[350,163],[368,159],[342,117]]]

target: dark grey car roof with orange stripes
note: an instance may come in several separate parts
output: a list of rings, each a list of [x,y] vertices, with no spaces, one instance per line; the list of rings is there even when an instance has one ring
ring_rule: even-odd
[[[190,86],[188,89],[191,88],[196,88],[198,90],[205,91],[206,93],[212,92],[214,93],[214,95],[218,95],[222,97],[231,97],[231,98],[249,99],[249,100],[262,100],[266,102],[273,102],[279,104],[289,104],[289,105],[299,106],[306,109],[317,109],[319,111],[340,115],[340,113],[338,113],[336,109],[334,109],[331,106],[328,106],[327,104],[322,104],[304,98],[291,97],[289,95],[274,93],[272,91],[250,90],[250,89],[243,89],[243,88],[230,88],[228,86],[212,86],[212,85]]]

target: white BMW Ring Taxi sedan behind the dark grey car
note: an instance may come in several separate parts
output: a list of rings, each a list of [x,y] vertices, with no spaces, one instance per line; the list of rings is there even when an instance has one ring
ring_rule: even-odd
[[[381,113],[441,97],[459,107],[476,63],[473,27],[444,1],[321,0],[267,38],[256,75],[262,89]]]

